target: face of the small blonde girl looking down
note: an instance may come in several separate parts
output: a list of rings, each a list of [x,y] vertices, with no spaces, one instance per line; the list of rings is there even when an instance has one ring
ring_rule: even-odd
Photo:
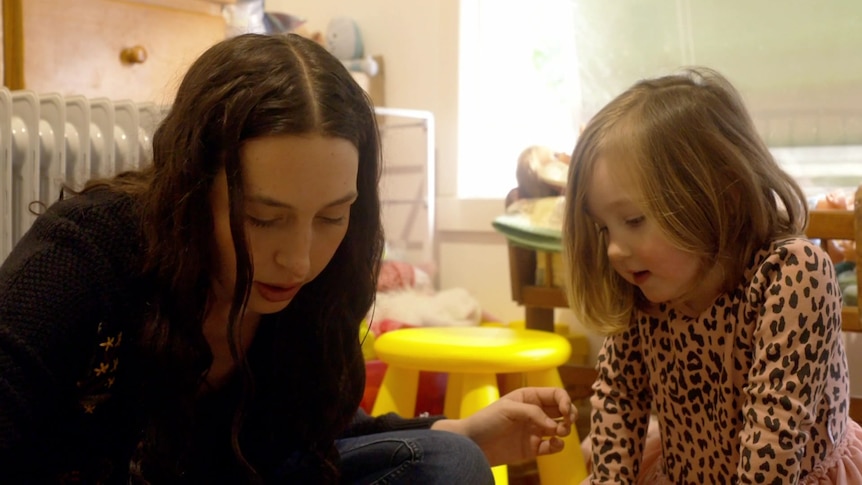
[[[621,183],[608,165],[605,159],[596,162],[587,207],[607,242],[611,266],[649,301],[699,314],[718,296],[718,270],[704,279],[701,260],[671,244],[631,184]]]

